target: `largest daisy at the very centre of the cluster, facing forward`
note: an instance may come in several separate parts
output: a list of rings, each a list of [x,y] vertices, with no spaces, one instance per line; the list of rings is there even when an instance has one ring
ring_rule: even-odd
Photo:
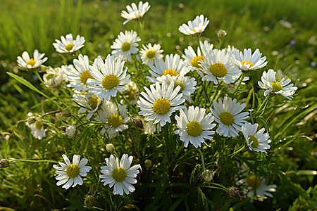
[[[166,81],[156,82],[154,85],[150,86],[150,89],[144,87],[147,94],[142,91],[137,101],[137,107],[141,109],[139,115],[143,115],[146,121],[154,121],[154,124],[160,123],[163,127],[166,122],[170,123],[170,115],[176,110],[185,108],[185,106],[179,106],[185,102],[185,98],[182,98],[182,93],[178,94],[180,91],[180,86],[174,89],[174,82],[170,82],[167,85]]]

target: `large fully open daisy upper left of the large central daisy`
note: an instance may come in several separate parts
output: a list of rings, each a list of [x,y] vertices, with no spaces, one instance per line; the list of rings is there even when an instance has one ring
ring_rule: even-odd
[[[100,99],[109,101],[111,96],[116,96],[118,91],[125,91],[130,80],[130,75],[127,75],[128,68],[123,72],[123,65],[125,64],[120,58],[116,59],[114,56],[108,55],[103,61],[99,56],[96,58],[95,65],[90,65],[90,75],[94,79],[88,79],[89,93],[96,94]],[[101,72],[99,71],[101,70]]]

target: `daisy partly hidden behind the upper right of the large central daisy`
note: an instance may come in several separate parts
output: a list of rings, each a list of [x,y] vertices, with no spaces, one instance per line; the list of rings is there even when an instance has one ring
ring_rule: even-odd
[[[163,75],[162,79],[168,82],[168,84],[170,82],[174,82],[174,88],[180,86],[182,97],[185,98],[185,100],[187,100],[189,103],[192,103],[192,98],[190,97],[190,95],[194,93],[197,85],[194,77],[187,77],[183,75]]]

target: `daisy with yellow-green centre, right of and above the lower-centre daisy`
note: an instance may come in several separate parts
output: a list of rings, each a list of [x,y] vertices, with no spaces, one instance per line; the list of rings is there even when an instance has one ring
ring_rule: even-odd
[[[241,113],[245,106],[245,103],[237,103],[237,99],[232,101],[232,98],[227,96],[223,98],[223,101],[219,99],[218,103],[213,101],[213,109],[210,108],[210,110],[219,124],[216,132],[229,138],[238,136],[238,131],[241,131],[242,125],[247,123],[245,119],[249,117],[249,113]]]

